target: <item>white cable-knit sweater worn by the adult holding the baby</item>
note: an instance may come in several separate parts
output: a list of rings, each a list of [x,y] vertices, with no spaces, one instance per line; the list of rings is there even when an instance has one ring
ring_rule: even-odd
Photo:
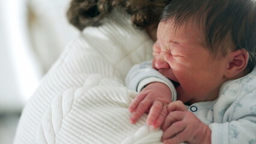
[[[130,124],[132,65],[151,59],[153,41],[113,13],[73,40],[23,109],[14,143],[161,143],[162,131]]]

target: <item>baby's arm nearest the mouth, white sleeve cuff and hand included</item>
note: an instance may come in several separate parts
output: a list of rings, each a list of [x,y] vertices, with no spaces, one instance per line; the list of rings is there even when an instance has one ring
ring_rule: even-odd
[[[133,112],[130,121],[134,124],[143,113],[150,110],[147,124],[159,127],[167,115],[166,104],[177,97],[171,81],[154,70],[151,61],[147,61],[133,66],[127,74],[126,85],[140,92],[129,106],[129,111]]]

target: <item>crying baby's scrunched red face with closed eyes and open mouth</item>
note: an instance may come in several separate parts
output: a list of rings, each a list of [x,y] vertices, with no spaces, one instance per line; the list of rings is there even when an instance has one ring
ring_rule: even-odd
[[[153,56],[153,67],[178,83],[178,100],[184,103],[214,100],[227,80],[227,58],[213,59],[204,47],[200,29],[191,20],[178,29],[172,25],[172,19],[160,22]]]

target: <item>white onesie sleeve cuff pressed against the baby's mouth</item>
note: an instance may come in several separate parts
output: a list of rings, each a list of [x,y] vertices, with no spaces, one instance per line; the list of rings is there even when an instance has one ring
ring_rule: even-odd
[[[145,61],[134,65],[126,76],[126,86],[140,92],[145,85],[151,82],[165,83],[171,89],[172,101],[177,100],[177,94],[171,80],[152,68],[152,61]]]

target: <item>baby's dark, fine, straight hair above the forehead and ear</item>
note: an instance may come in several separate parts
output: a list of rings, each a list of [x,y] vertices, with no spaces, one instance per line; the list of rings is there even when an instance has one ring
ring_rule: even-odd
[[[160,21],[174,19],[179,28],[186,20],[203,28],[206,47],[215,58],[227,55],[231,42],[234,49],[246,49],[249,53],[245,73],[256,64],[256,1],[255,0],[172,0],[163,10]]]

